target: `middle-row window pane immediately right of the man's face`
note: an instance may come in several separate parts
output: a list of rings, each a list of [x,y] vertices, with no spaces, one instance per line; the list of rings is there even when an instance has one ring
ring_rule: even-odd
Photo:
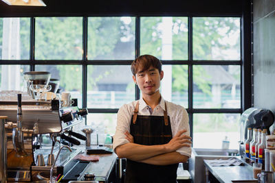
[[[163,65],[162,70],[164,71],[161,84],[162,97],[188,108],[188,66]]]

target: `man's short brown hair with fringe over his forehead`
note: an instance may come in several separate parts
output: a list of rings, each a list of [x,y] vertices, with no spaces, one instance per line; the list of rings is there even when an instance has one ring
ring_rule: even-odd
[[[158,58],[151,55],[139,56],[135,60],[133,60],[131,64],[131,71],[133,75],[135,75],[138,69],[146,71],[150,68],[150,66],[158,69],[159,73],[162,71],[162,62],[160,62]]]

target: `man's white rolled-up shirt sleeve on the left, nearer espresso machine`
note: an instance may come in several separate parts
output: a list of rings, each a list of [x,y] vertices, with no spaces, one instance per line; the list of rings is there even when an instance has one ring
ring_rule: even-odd
[[[124,133],[130,132],[130,123],[131,123],[131,114],[126,104],[123,105],[120,110],[118,110],[117,116],[117,125],[115,128],[115,134],[113,136],[113,149],[116,147],[123,145],[125,143],[129,143],[126,140]]]

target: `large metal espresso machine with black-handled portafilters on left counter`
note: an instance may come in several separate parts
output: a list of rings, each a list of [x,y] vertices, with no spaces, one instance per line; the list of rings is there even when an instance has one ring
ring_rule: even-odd
[[[76,148],[80,145],[78,140],[86,140],[85,136],[73,132],[73,127],[83,122],[87,114],[87,108],[62,108],[58,99],[1,100],[0,116],[6,116],[0,124],[1,179],[30,182],[69,175],[74,171],[72,167],[80,163],[74,156],[83,153]]]

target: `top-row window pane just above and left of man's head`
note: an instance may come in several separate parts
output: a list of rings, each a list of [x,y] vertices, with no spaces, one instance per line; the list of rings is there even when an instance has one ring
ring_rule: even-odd
[[[133,60],[134,17],[89,17],[88,60]]]

